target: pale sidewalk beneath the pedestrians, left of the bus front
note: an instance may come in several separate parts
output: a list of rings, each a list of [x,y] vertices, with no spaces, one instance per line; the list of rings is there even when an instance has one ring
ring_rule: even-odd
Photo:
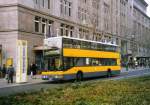
[[[15,81],[16,77],[14,77],[14,81]],[[7,83],[7,80],[5,78],[1,78],[0,79],[0,88],[5,88],[5,87],[14,87],[14,86],[21,86],[21,85],[29,85],[29,84],[38,84],[38,83],[42,83],[42,82],[47,82],[46,80],[42,80],[41,79],[41,75],[36,75],[36,79],[32,79],[30,76],[28,76],[28,82],[26,83]]]

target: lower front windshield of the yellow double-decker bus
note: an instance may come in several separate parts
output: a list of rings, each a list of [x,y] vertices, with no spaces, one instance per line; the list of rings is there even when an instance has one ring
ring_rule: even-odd
[[[62,60],[60,55],[50,56],[45,58],[45,69],[50,71],[61,71],[62,69]]]

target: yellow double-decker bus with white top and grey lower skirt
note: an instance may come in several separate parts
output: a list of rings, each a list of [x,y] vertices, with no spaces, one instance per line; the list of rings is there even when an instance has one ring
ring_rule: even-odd
[[[45,39],[42,79],[70,80],[120,73],[117,45],[70,37]]]

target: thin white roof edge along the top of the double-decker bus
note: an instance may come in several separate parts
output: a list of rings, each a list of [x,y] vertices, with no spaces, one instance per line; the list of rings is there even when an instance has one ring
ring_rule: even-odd
[[[80,38],[75,38],[75,37],[67,37],[67,36],[58,36],[58,37],[51,37],[51,38],[47,38],[47,39],[53,39],[53,38],[67,38],[67,39],[73,39],[73,40],[79,40],[79,41],[86,41],[86,42],[92,42],[92,43],[100,43],[100,44],[104,44],[104,45],[109,45],[109,46],[118,46],[116,44],[112,44],[112,43],[105,43],[105,42],[98,42],[98,41],[92,41],[92,40],[86,40],[86,39],[80,39]]]

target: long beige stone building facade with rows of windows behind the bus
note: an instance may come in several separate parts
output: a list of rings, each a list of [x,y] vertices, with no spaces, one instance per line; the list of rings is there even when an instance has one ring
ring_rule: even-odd
[[[36,61],[42,68],[43,39],[54,36],[117,43],[123,57],[132,54],[133,48],[134,56],[148,54],[149,43],[145,40],[150,35],[150,19],[135,8],[138,2],[143,4],[142,0],[1,0],[1,64],[13,58],[16,66],[16,42],[27,40],[29,64]],[[136,26],[139,21],[133,15],[134,10],[146,20],[141,23],[142,32],[134,28],[134,21]]]

